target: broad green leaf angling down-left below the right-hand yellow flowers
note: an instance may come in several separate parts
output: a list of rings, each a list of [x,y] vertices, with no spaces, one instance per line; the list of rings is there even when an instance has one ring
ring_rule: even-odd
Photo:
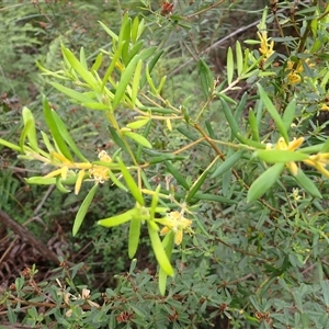
[[[279,179],[284,163],[275,163],[263,172],[250,186],[247,202],[252,202],[261,197]]]

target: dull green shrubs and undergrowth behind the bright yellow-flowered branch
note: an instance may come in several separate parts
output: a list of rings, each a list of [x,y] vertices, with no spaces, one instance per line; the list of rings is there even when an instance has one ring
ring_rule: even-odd
[[[219,140],[217,147],[230,159],[222,174],[220,163],[212,168],[200,186],[200,195],[206,196],[191,202],[193,231],[173,251],[175,275],[168,279],[167,295],[161,296],[147,230],[141,230],[141,243],[131,261],[128,227],[94,225],[133,207],[128,194],[102,185],[72,237],[76,214],[90,185],[83,184],[78,195],[63,194],[53,185],[29,185],[24,179],[46,174],[48,169],[22,161],[15,151],[0,146],[1,219],[9,215],[9,222],[0,224],[3,328],[15,324],[26,328],[328,328],[327,162],[322,167],[298,162],[308,184],[286,169],[280,179],[274,174],[273,185],[247,203],[250,185],[271,168],[271,161],[253,156],[257,148],[235,139],[231,117],[225,112],[227,104],[248,140],[274,146],[282,136],[280,120],[266,109],[274,104],[282,121],[292,123],[286,128],[290,140],[304,137],[304,146],[313,148],[309,152],[327,155],[328,8],[320,1],[247,2],[182,0],[174,2],[172,12],[167,12],[164,2],[147,0],[0,2],[1,138],[19,143],[23,106],[44,129],[45,94],[87,158],[95,158],[98,149],[109,154],[116,149],[103,116],[54,89],[48,83],[54,79],[41,75],[35,63],[53,71],[61,69],[63,44],[76,56],[83,47],[92,65],[100,48],[112,47],[98,21],[118,33],[128,10],[132,18],[145,19],[144,47],[163,50],[152,71],[156,86],[167,76],[160,97],[167,104],[186,109],[190,117],[207,105],[198,122],[202,131],[184,121],[173,123],[172,131],[156,122],[148,136],[154,149],[171,152],[192,143],[183,159],[173,162],[190,186],[214,159],[216,149],[209,139]],[[271,41],[260,45],[257,32],[262,30],[275,42],[274,52]],[[257,72],[246,79],[235,72],[232,86],[227,83],[227,54],[229,47],[236,54],[237,41],[243,49],[250,48],[249,63],[254,59]],[[262,53],[259,48],[264,45]],[[211,69],[223,98],[209,97],[202,68]],[[271,98],[265,105],[261,90]],[[293,99],[294,114],[287,118],[284,113]],[[121,107],[118,121],[129,120],[129,109]],[[193,144],[200,132],[206,132],[208,139]],[[243,149],[240,145],[247,151],[235,160]],[[174,195],[183,195],[179,177],[161,164],[147,169],[149,183],[172,184]],[[21,226],[7,225],[12,220]],[[41,249],[33,237],[44,243]],[[52,259],[54,253],[59,261]]]

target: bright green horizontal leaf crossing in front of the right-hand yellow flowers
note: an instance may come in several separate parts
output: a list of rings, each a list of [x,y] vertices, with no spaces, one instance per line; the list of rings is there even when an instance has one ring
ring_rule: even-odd
[[[308,159],[308,155],[300,154],[291,150],[257,150],[254,152],[256,157],[262,159],[265,162],[276,163],[276,162],[290,162],[290,161],[303,161]]]

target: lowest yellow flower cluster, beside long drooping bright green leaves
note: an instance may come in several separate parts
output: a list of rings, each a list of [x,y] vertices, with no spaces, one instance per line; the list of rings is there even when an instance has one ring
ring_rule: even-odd
[[[170,230],[172,230],[174,232],[174,243],[178,246],[183,240],[183,230],[188,230],[192,225],[192,220],[184,218],[179,212],[171,212],[159,222],[164,225],[160,234],[167,235]]]

